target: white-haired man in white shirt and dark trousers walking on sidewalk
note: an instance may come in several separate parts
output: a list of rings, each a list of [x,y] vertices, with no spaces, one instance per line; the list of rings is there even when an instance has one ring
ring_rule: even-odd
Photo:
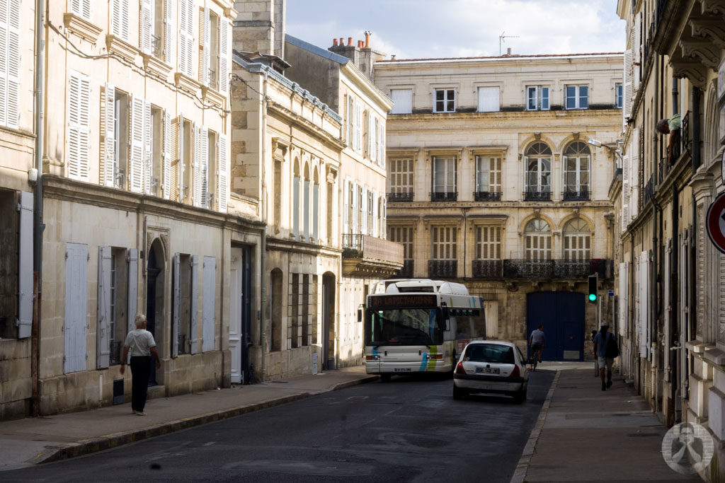
[[[136,330],[128,332],[123,343],[123,357],[121,358],[121,374],[128,360],[130,352],[131,366],[131,409],[138,416],[146,416],[146,393],[149,391],[149,374],[151,373],[151,358],[156,358],[156,369],[161,367],[161,359],[156,350],[156,341],[151,332],[146,330],[146,316],[136,316]]]

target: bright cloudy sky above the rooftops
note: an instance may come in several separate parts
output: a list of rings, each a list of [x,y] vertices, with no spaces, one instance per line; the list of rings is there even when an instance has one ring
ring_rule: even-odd
[[[287,33],[364,39],[397,59],[624,51],[616,0],[287,0]],[[390,57],[388,57],[390,58]]]

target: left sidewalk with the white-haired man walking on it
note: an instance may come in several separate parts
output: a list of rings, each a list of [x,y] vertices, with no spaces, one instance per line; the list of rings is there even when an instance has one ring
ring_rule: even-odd
[[[130,403],[0,423],[0,471],[56,461],[377,379],[364,366],[279,382],[150,399],[148,416]],[[1,473],[0,473],[1,474]],[[2,477],[0,476],[0,480]]]

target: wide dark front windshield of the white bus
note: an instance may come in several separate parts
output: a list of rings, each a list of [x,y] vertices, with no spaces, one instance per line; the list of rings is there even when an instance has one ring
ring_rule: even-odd
[[[365,318],[365,345],[439,345],[443,343],[439,308],[370,309]]]

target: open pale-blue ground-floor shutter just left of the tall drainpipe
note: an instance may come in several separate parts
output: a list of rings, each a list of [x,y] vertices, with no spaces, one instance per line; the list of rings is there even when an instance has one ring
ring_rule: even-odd
[[[17,337],[33,329],[33,193],[20,192],[20,240],[17,271]]]

